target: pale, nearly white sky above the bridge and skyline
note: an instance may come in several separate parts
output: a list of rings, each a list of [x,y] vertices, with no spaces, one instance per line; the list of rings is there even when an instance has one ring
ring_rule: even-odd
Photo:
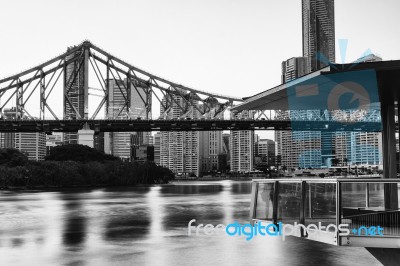
[[[400,59],[399,10],[336,0],[336,43],[348,40],[336,62],[368,49]],[[168,80],[246,97],[280,84],[281,62],[302,55],[301,25],[300,0],[0,0],[0,79],[88,39]]]

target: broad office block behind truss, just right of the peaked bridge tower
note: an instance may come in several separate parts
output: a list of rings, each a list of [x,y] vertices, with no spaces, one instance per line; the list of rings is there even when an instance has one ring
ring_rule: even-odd
[[[108,107],[106,108],[106,118],[109,119],[147,119],[151,118],[151,113],[146,108],[146,87],[135,84],[133,86],[127,80],[108,80]],[[130,93],[126,93],[125,87]],[[124,93],[123,93],[124,92]],[[129,99],[128,99],[129,97]],[[129,105],[126,106],[126,100]],[[143,99],[143,100],[142,100]],[[149,97],[151,102],[151,98]],[[138,139],[136,145],[149,143],[149,132],[105,132],[104,133],[104,152],[120,157],[123,160],[131,158],[131,135],[135,134],[134,139]]]

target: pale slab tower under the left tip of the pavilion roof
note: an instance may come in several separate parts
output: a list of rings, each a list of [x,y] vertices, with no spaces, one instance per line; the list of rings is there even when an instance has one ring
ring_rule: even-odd
[[[252,111],[231,113],[231,119],[252,119]],[[254,131],[231,130],[229,139],[232,172],[251,172],[254,167]]]

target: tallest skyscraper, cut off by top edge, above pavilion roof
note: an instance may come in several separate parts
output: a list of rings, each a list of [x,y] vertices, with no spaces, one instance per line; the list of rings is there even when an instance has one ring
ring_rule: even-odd
[[[335,62],[334,0],[302,0],[303,57],[307,72]]]

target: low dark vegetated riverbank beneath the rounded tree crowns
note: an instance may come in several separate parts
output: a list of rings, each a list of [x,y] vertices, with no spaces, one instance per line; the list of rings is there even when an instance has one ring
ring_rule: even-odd
[[[41,161],[0,166],[0,188],[13,190],[137,186],[165,184],[173,179],[169,169],[152,162]]]

